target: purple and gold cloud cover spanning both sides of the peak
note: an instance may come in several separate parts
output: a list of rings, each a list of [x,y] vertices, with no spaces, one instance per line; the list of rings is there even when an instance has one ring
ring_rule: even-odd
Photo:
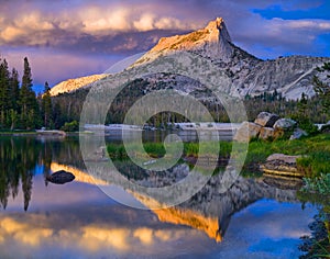
[[[69,5],[70,3],[70,5]],[[287,52],[301,49],[321,34],[329,33],[329,20],[310,19],[267,20],[251,11],[251,7],[267,10],[279,5],[282,10],[320,8],[322,1],[57,1],[52,4],[26,1],[6,2],[0,9],[0,45],[18,47],[51,47],[80,54],[134,54],[151,48],[160,37],[202,27],[216,16],[226,19],[234,42],[257,55],[255,45],[264,48],[276,43],[285,46],[290,35],[301,38],[290,41]],[[67,5],[67,8],[64,8]],[[14,10],[14,11],[12,11]],[[146,38],[146,41],[144,41]],[[252,43],[252,40],[255,42]],[[294,45],[296,43],[296,45]],[[297,52],[297,50],[296,50]]]

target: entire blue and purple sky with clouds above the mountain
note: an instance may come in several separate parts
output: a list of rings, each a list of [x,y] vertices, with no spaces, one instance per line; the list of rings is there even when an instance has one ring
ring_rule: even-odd
[[[40,90],[102,74],[217,16],[235,45],[260,58],[330,57],[328,0],[0,0],[0,55],[19,71],[26,56]]]

